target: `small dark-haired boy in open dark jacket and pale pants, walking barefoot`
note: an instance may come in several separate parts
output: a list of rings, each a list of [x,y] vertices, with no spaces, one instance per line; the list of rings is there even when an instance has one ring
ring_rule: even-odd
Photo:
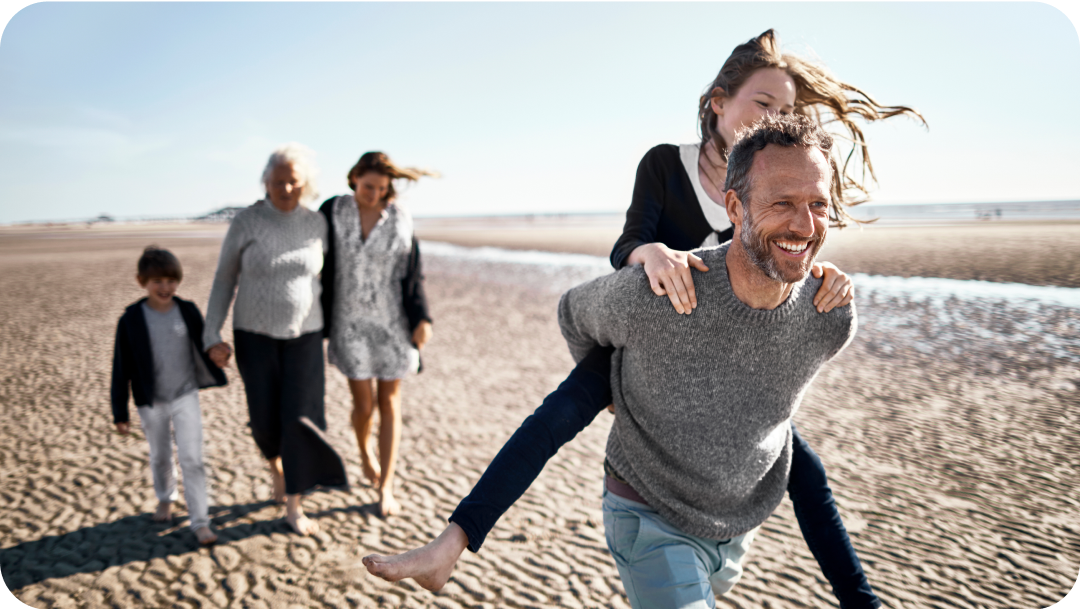
[[[167,249],[150,245],[138,260],[135,279],[146,298],[127,307],[117,324],[112,355],[112,421],[131,430],[129,385],[139,421],[150,443],[150,471],[158,496],[157,522],[173,517],[176,466],[173,432],[184,472],[184,499],[191,530],[201,544],[217,541],[210,526],[206,474],[202,460],[202,412],[199,390],[228,382],[203,350],[203,317],[193,302],[175,296],[184,278],[180,261]]]

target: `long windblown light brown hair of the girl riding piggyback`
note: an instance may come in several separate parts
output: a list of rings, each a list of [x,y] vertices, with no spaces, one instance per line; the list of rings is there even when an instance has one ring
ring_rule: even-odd
[[[757,38],[735,46],[724,62],[724,67],[716,75],[708,91],[701,96],[698,103],[698,120],[702,146],[716,139],[717,150],[727,155],[732,143],[724,141],[723,136],[716,133],[714,126],[716,113],[713,112],[710,102],[714,97],[733,97],[746,79],[761,68],[782,69],[795,81],[795,113],[810,117],[823,126],[839,123],[842,128],[839,133],[833,131],[833,135],[851,143],[847,153],[843,153],[840,147],[834,148],[834,154],[839,157],[835,160],[839,167],[840,179],[833,180],[835,204],[832,206],[832,220],[839,227],[847,226],[853,218],[847,214],[845,207],[865,203],[868,200],[866,190],[868,181],[877,181],[866,138],[853,119],[858,117],[873,122],[906,114],[923,125],[927,124],[926,119],[907,106],[882,106],[865,92],[838,80],[824,66],[781,53],[775,32],[769,29]],[[858,172],[860,167],[862,171]],[[849,170],[861,173],[861,179],[855,179]]]

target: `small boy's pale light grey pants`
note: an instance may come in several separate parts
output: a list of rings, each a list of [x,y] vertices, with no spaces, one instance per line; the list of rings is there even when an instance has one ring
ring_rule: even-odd
[[[202,461],[202,411],[199,392],[192,391],[172,402],[139,406],[138,418],[150,443],[150,472],[158,501],[177,499],[176,464],[173,462],[173,435],[184,473],[184,500],[188,504],[191,530],[210,524],[206,502],[206,473]]]

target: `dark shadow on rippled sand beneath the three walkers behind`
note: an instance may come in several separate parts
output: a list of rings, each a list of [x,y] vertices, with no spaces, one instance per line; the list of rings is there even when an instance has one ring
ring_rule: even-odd
[[[267,508],[279,508],[280,517],[228,526]],[[259,534],[293,533],[285,523],[284,510],[273,501],[212,506],[210,515],[217,529],[217,545]],[[308,512],[308,516],[322,518],[336,512],[378,517],[378,504],[333,508]],[[0,576],[8,590],[15,591],[51,578],[95,573],[117,565],[178,556],[199,547],[186,517],[176,517],[172,523],[154,523],[151,514],[140,514],[0,550]]]

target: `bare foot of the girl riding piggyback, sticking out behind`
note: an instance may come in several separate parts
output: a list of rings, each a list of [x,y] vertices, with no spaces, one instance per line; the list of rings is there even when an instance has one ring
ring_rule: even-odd
[[[450,526],[428,545],[395,556],[370,554],[364,556],[364,566],[367,567],[368,573],[388,582],[413,578],[426,590],[437,592],[450,579],[454,566],[468,545],[469,538],[465,531],[457,524],[450,523]]]

